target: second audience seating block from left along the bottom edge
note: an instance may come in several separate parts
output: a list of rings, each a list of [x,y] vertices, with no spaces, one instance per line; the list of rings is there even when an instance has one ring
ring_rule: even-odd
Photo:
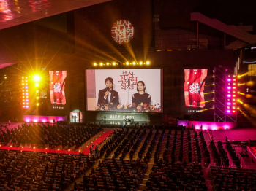
[[[147,167],[140,160],[105,158],[89,176],[83,176],[83,182],[75,184],[75,190],[138,190]]]

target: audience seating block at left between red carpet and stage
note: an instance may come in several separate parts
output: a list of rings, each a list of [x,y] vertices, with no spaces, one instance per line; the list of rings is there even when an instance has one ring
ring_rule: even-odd
[[[18,125],[0,134],[0,142],[16,144],[54,145],[81,147],[92,136],[102,130],[99,127],[75,125]]]

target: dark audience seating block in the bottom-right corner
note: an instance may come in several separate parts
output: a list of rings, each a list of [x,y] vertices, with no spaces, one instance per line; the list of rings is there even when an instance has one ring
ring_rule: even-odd
[[[213,190],[256,190],[255,169],[211,166],[209,175]]]

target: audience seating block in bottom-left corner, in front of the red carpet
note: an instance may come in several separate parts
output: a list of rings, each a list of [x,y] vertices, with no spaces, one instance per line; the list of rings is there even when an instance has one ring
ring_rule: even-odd
[[[95,162],[84,155],[0,150],[0,189],[64,190]]]

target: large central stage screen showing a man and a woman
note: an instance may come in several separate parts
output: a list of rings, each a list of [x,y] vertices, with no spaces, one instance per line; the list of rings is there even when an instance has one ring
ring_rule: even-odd
[[[86,110],[162,112],[162,69],[86,70]]]

